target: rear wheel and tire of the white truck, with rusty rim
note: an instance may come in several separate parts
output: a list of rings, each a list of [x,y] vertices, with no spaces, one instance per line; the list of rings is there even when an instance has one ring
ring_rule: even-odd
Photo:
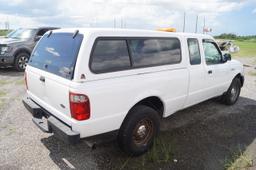
[[[159,132],[160,117],[151,107],[138,105],[130,110],[119,133],[120,148],[133,156],[147,152]]]

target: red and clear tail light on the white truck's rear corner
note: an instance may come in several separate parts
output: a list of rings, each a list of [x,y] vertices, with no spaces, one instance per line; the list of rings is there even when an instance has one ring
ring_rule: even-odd
[[[69,92],[71,116],[76,120],[90,118],[90,101],[86,95]]]

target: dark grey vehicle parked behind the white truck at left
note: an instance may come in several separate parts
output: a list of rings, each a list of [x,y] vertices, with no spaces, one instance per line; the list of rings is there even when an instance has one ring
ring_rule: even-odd
[[[19,28],[0,39],[0,67],[24,71],[37,41],[55,27]]]

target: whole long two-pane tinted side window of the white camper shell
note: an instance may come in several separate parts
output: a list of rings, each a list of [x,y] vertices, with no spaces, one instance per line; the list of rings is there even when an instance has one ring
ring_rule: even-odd
[[[98,38],[92,50],[90,69],[108,73],[181,62],[177,38]]]

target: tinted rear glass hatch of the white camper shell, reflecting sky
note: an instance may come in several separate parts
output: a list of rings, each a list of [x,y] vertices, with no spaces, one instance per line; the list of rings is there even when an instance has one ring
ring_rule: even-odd
[[[52,33],[43,36],[28,65],[71,80],[83,35]]]

